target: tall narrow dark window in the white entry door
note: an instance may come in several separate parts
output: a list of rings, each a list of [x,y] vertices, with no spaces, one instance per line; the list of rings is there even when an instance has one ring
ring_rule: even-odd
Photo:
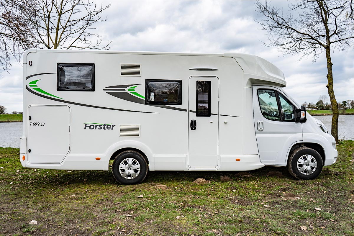
[[[210,116],[211,81],[197,81],[196,116]]]

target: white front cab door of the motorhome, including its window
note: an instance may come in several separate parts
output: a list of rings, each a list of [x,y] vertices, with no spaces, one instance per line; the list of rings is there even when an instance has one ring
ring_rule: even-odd
[[[295,123],[295,109],[281,90],[253,86],[253,116],[262,163],[285,163],[290,146],[302,140],[302,124]]]

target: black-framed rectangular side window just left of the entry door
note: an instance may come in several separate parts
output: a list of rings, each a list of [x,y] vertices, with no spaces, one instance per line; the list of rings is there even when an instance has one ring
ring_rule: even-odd
[[[145,104],[182,104],[182,80],[145,80]]]

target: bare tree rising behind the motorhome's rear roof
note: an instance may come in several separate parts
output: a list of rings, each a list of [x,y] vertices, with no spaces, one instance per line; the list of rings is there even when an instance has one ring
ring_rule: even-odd
[[[29,24],[36,32],[36,40],[48,49],[91,48],[109,49],[101,46],[102,36],[93,33],[95,24],[107,21],[101,13],[108,6],[89,1],[34,1],[29,6],[33,12]]]

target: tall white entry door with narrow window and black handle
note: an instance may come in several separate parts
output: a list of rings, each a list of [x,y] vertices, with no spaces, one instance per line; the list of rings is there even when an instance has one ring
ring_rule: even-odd
[[[218,165],[219,79],[189,78],[188,166]]]

